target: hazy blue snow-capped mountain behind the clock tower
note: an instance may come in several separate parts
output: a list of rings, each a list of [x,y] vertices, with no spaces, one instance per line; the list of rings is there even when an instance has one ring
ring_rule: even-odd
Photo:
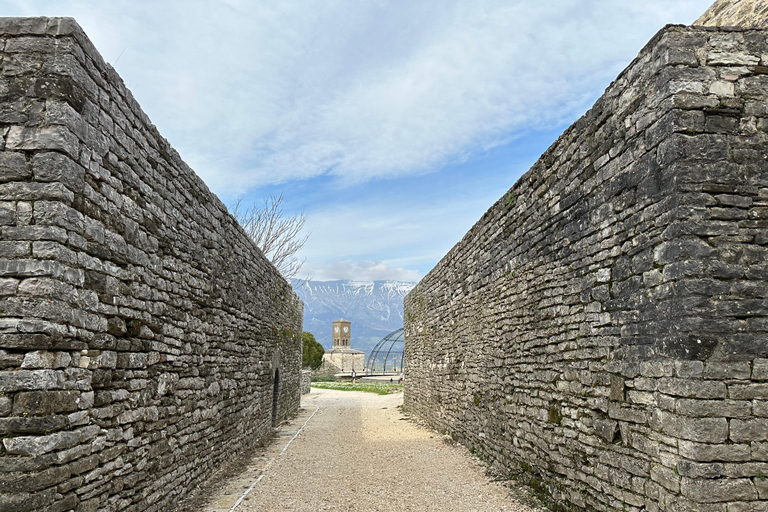
[[[331,322],[352,322],[352,348],[366,354],[403,326],[403,298],[416,283],[402,281],[309,281],[292,279],[304,301],[304,330],[331,348]]]

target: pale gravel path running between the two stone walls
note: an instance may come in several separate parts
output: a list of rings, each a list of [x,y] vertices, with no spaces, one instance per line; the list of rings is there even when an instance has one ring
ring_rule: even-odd
[[[230,510],[249,487],[235,512],[541,510],[486,477],[463,447],[407,421],[401,404],[402,393],[313,388],[278,439],[220,482],[199,510]]]

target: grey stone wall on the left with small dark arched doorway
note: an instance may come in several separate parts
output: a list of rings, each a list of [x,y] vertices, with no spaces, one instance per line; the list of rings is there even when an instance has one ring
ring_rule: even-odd
[[[297,409],[301,302],[73,20],[0,19],[0,134],[0,510],[172,510]]]

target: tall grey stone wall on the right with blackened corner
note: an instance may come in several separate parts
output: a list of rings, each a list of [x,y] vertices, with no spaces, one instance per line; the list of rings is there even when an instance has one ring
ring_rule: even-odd
[[[768,31],[670,26],[405,300],[405,405],[563,510],[768,510]]]

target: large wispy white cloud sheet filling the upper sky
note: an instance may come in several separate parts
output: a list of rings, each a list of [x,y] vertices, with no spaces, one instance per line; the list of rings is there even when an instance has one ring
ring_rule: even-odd
[[[20,1],[74,15],[218,193],[425,172],[583,113],[710,0]],[[673,5],[670,5],[673,4]],[[9,10],[12,10],[10,7]]]

